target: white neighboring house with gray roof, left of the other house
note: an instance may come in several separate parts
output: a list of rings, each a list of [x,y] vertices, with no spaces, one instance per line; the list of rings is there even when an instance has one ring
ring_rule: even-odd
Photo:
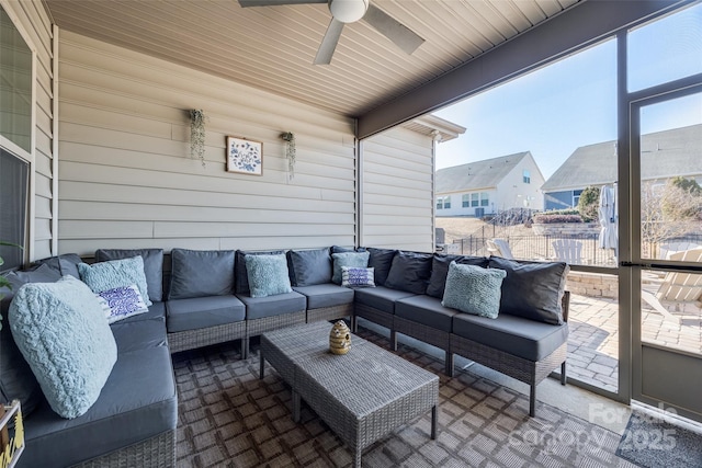
[[[483,216],[509,208],[543,209],[544,176],[531,152],[437,171],[437,216]]]

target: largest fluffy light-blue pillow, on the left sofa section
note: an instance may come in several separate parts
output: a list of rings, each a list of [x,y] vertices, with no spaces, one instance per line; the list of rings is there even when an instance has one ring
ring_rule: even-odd
[[[117,345],[95,295],[72,276],[22,286],[10,305],[12,336],[52,409],[84,414],[98,400]]]

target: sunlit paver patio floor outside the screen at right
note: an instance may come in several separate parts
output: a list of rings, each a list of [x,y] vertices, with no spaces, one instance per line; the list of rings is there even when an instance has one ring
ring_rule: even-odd
[[[656,292],[652,281],[645,285]],[[660,301],[679,320],[671,320],[642,305],[642,339],[702,355],[702,305]],[[573,294],[568,319],[568,376],[616,391],[619,372],[619,301]]]

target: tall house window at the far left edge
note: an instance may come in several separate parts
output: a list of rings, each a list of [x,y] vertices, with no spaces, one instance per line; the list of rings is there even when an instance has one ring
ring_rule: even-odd
[[[0,7],[0,271],[24,264],[32,157],[32,49]]]

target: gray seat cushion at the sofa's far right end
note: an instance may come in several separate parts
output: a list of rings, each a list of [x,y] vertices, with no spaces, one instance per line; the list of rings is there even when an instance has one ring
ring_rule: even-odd
[[[568,324],[554,327],[506,313],[500,313],[497,319],[456,313],[453,316],[453,333],[536,362],[568,341]]]

